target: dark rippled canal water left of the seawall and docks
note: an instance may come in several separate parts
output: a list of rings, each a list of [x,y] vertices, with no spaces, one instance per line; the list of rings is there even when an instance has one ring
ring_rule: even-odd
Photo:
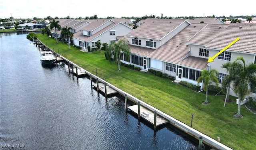
[[[196,150],[198,140],[125,112],[64,63],[44,66],[26,33],[1,33],[0,149]]]

